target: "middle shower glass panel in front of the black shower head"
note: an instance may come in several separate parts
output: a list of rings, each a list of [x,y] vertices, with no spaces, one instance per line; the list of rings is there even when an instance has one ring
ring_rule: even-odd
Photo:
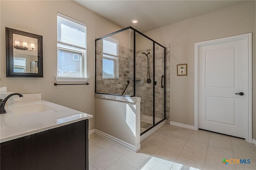
[[[153,42],[136,33],[136,96],[141,98],[140,133],[153,126]]]

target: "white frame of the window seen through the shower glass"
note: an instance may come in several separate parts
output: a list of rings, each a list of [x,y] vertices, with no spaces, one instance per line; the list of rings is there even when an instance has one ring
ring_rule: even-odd
[[[104,38],[105,40],[108,40],[110,42],[113,42],[117,45],[116,47],[116,55],[112,55],[109,53],[104,53],[102,52],[102,60],[103,59],[109,59],[109,60],[113,60],[114,61],[114,77],[103,77],[103,64],[102,64],[102,79],[118,79],[119,78],[119,64],[118,64],[118,46],[119,46],[119,41],[112,38],[112,37],[106,37]],[[102,61],[103,63],[103,61]]]

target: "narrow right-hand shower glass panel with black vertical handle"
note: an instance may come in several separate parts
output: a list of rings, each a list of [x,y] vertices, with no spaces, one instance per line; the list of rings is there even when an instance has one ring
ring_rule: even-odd
[[[154,78],[156,81],[155,85],[155,121],[154,123],[160,122],[162,119],[164,119],[164,113],[165,113],[165,67],[164,67],[164,61],[165,61],[165,48],[161,47],[160,45],[154,43],[154,54],[155,54],[155,71],[154,71]]]

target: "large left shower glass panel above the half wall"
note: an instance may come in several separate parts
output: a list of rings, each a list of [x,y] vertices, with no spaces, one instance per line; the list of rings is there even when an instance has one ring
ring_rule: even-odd
[[[133,30],[96,41],[96,93],[133,95]]]

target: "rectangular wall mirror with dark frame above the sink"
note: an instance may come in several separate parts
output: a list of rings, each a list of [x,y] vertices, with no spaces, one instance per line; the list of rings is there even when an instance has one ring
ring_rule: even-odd
[[[5,28],[6,77],[43,77],[43,37]]]

